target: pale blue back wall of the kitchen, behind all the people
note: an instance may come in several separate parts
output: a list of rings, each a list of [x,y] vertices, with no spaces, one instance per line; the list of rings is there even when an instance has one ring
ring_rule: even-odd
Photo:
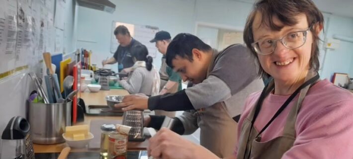
[[[197,27],[197,23],[206,23],[210,26],[220,26],[236,30],[243,30],[246,17],[252,8],[252,1],[244,0],[111,0],[116,4],[116,11],[109,14],[89,8],[80,7],[78,21],[77,47],[87,48],[93,51],[93,63],[98,64],[106,57],[111,57],[110,34],[113,20],[158,26],[161,30],[167,30],[172,37],[180,32],[188,32],[200,38],[208,40],[211,45],[215,40],[209,37],[217,37],[216,29]],[[341,34],[353,37],[353,18],[325,13],[328,26],[325,31],[327,37],[333,34]],[[106,30],[106,31],[105,31]],[[328,50],[320,71],[323,79],[331,79],[334,72],[350,73],[353,76],[353,52],[349,48],[349,42],[342,42],[338,49]],[[324,55],[324,49],[321,54]],[[160,67],[161,57],[158,54],[154,61],[157,68]],[[116,65],[109,66],[116,70]]]

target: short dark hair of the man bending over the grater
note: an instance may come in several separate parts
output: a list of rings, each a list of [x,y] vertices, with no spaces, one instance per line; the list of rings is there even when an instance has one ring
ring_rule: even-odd
[[[212,48],[205,44],[195,35],[188,33],[177,34],[172,42],[168,45],[166,54],[166,63],[169,67],[174,68],[172,61],[176,56],[187,59],[192,62],[192,49],[201,51],[210,51]]]

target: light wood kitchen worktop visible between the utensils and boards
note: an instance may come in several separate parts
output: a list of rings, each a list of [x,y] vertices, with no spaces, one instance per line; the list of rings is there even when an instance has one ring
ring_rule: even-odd
[[[89,105],[106,105],[105,96],[107,95],[127,95],[129,94],[125,89],[110,89],[110,90],[100,90],[98,92],[81,92],[80,97],[85,101],[86,107]],[[122,120],[121,116],[87,116],[85,115],[85,121],[76,123],[75,125],[82,125],[82,124],[90,124],[91,120]],[[100,136],[94,136],[94,138],[99,138]],[[128,150],[146,150],[148,146],[148,139],[144,142],[128,142]],[[55,156],[56,153],[60,153],[65,147],[68,147],[66,143],[60,144],[53,144],[53,145],[39,145],[33,144],[34,152],[36,153],[44,153],[49,156]],[[99,156],[99,149],[71,149],[72,154],[85,154],[83,152],[88,152],[92,154],[97,154],[93,156]],[[44,155],[42,154],[42,155]],[[44,155],[45,156],[45,155]],[[70,156],[69,156],[70,157]],[[84,159],[90,159],[83,157]],[[37,157],[36,157],[37,159]],[[41,158],[38,158],[41,159]],[[42,159],[51,159],[51,158],[42,158]],[[54,159],[54,158],[53,158]],[[56,158],[55,158],[56,159]],[[70,159],[70,158],[68,158]],[[76,158],[72,158],[76,159]],[[93,159],[93,158],[92,158]],[[97,159],[97,158],[94,158]],[[135,158],[132,158],[135,159]],[[138,159],[138,158],[136,158]]]

